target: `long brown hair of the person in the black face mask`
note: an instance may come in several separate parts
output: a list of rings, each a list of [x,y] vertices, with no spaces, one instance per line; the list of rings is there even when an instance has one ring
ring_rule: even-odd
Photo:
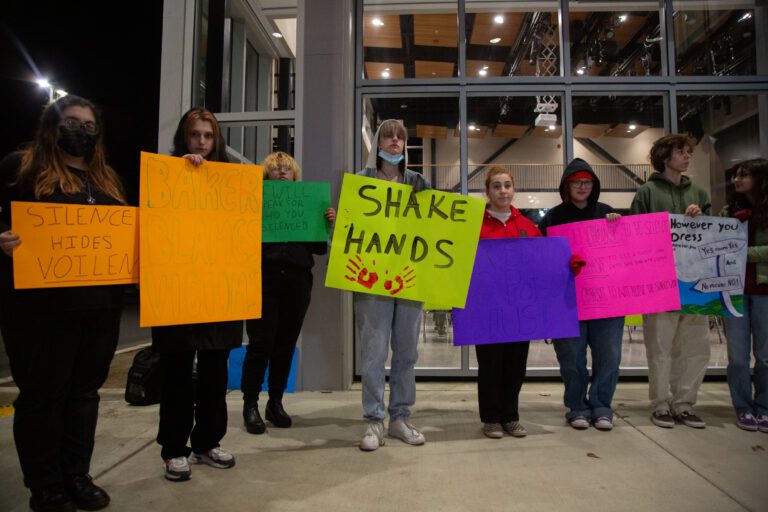
[[[125,204],[120,178],[114,169],[107,165],[104,154],[101,112],[90,101],[73,94],[64,96],[43,110],[35,140],[21,150],[21,167],[15,184],[32,187],[37,199],[49,196],[56,190],[75,195],[83,189],[83,180],[64,165],[62,150],[58,146],[59,122],[64,111],[73,106],[90,109],[96,126],[99,127],[93,155],[87,162],[88,178],[102,192]]]

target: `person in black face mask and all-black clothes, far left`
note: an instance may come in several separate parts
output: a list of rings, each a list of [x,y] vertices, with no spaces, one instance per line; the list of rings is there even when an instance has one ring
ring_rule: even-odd
[[[35,139],[0,162],[0,331],[19,388],[13,434],[32,510],[99,510],[90,475],[98,390],[117,346],[124,286],[15,290],[11,201],[124,205],[104,156],[101,114],[85,98],[48,105]]]

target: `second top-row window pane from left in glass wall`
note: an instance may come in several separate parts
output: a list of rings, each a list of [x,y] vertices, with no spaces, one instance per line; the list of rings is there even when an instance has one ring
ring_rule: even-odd
[[[467,1],[466,76],[559,76],[557,4]]]

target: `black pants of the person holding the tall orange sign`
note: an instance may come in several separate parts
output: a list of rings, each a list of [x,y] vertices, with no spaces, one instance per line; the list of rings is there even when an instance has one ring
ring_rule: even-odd
[[[157,442],[163,459],[205,453],[219,446],[227,432],[229,349],[197,351],[196,386],[192,381],[195,352],[160,354],[163,387]]]

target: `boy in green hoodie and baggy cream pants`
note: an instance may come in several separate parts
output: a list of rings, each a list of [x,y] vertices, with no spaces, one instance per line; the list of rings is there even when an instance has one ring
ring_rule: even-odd
[[[633,215],[669,212],[689,217],[709,215],[709,194],[684,173],[696,141],[687,135],[666,135],[653,143],[656,170],[635,193]],[[648,357],[651,421],[672,428],[675,421],[691,428],[707,424],[693,410],[709,363],[709,319],[677,312],[643,315],[643,341]]]

